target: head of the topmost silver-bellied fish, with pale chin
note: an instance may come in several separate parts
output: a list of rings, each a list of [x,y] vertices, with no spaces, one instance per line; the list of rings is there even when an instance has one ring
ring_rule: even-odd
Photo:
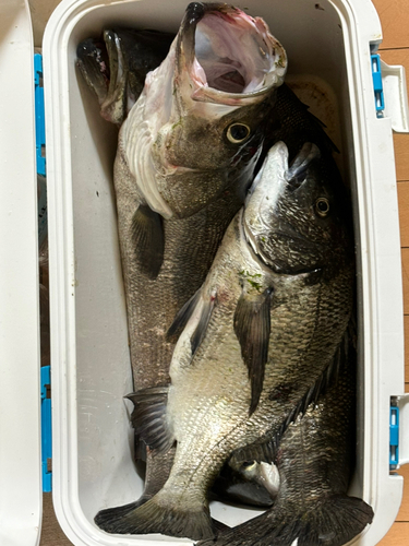
[[[246,198],[243,228],[277,273],[328,272],[351,261],[350,201],[328,173],[315,144],[305,143],[290,165],[284,142],[268,152]]]

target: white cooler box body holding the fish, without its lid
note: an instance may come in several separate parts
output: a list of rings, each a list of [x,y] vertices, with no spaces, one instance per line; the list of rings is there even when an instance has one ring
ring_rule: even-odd
[[[75,545],[190,544],[163,535],[115,536],[93,522],[135,500],[142,480],[122,396],[131,391],[127,314],[111,173],[116,130],[75,70],[76,45],[115,25],[177,31],[187,0],[65,0],[44,41],[51,282],[53,501]],[[374,546],[398,512],[402,479],[388,474],[389,402],[404,393],[400,241],[392,120],[377,119],[370,44],[382,39],[369,0],[249,0],[284,44],[290,76],[323,81],[335,96],[334,139],[356,212],[360,388],[351,494],[375,518],[351,544]],[[240,5],[240,3],[239,3]],[[215,518],[255,514],[224,505]]]

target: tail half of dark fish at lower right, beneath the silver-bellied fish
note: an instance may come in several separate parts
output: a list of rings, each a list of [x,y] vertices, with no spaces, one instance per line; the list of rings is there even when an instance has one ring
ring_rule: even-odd
[[[372,522],[372,508],[346,495],[354,463],[357,353],[353,334],[345,341],[326,392],[278,446],[264,447],[274,446],[280,476],[274,507],[200,546],[342,546]]]

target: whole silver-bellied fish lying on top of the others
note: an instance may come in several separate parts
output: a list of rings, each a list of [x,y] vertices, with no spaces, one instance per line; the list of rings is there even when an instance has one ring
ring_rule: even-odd
[[[348,200],[320,165],[311,143],[291,166],[282,142],[269,152],[205,283],[170,329],[183,331],[169,390],[132,396],[146,443],[166,451],[177,441],[169,478],[103,529],[213,537],[207,491],[222,464],[274,435],[318,389],[351,316],[354,278]]]

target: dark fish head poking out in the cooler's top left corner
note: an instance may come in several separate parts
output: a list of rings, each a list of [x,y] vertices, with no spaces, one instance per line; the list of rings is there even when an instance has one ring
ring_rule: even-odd
[[[77,66],[100,105],[103,118],[121,124],[140,97],[148,72],[166,58],[175,35],[156,31],[109,28],[101,39],[76,48]]]

